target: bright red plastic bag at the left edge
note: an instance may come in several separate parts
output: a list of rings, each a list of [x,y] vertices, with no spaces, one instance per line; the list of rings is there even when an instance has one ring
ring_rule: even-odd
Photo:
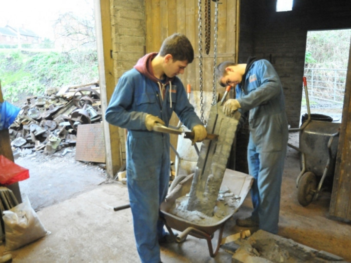
[[[25,169],[5,156],[0,155],[0,184],[11,185],[29,178],[29,170]]]

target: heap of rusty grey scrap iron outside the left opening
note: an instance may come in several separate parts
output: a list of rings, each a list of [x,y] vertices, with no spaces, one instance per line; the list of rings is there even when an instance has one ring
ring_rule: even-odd
[[[21,107],[9,127],[11,146],[15,150],[31,149],[52,154],[75,146],[77,127],[101,122],[98,83],[46,90],[32,96]]]

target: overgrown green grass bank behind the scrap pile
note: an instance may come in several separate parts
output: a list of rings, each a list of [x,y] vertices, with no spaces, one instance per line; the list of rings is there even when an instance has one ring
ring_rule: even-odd
[[[0,50],[0,81],[5,100],[16,104],[21,97],[39,96],[47,88],[77,86],[98,81],[96,50]]]

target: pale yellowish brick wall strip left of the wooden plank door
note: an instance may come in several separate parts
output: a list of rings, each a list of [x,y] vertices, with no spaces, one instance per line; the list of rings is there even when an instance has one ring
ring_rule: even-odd
[[[114,0],[111,8],[114,73],[118,79],[145,54],[144,0]]]

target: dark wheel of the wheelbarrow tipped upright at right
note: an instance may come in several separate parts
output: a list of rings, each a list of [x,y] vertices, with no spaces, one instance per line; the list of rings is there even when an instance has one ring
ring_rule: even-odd
[[[301,206],[306,207],[311,204],[315,190],[317,180],[313,172],[305,172],[298,183],[297,200]]]

